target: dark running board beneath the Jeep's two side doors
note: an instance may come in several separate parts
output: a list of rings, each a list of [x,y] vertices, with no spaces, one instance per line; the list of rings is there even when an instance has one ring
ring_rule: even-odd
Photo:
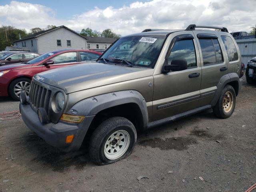
[[[160,119],[160,120],[157,120],[157,121],[150,122],[148,124],[148,129],[170,123],[170,122],[178,120],[180,118],[184,118],[184,117],[188,117],[190,115],[194,115],[196,113],[202,112],[202,111],[204,111],[206,109],[210,109],[210,108],[212,108],[211,105],[206,105],[206,106],[202,106],[202,107],[190,110],[190,111],[186,111],[184,113],[180,113],[180,114],[177,114],[177,115],[174,115],[174,116],[171,116],[171,117],[167,117],[167,118],[164,118],[164,119]]]

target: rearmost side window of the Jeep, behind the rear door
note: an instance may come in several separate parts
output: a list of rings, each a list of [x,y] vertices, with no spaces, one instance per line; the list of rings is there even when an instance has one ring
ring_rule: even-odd
[[[221,36],[221,38],[228,54],[228,61],[230,62],[238,60],[238,53],[232,39],[229,36]]]

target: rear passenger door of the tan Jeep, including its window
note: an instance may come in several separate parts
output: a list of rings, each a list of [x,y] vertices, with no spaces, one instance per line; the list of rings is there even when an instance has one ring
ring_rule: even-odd
[[[220,78],[233,69],[226,61],[225,48],[220,36],[210,31],[194,31],[194,34],[199,47],[202,66],[200,98],[202,103],[210,104]]]

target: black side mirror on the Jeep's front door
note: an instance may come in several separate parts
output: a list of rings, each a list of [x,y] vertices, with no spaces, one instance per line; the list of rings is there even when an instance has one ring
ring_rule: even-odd
[[[182,71],[188,68],[186,59],[176,58],[173,59],[170,65],[164,65],[162,73],[168,73],[170,71]]]

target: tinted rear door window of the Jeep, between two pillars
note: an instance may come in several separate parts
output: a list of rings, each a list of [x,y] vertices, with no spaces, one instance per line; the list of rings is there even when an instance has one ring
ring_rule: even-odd
[[[223,62],[220,44],[217,39],[199,39],[204,65]]]

